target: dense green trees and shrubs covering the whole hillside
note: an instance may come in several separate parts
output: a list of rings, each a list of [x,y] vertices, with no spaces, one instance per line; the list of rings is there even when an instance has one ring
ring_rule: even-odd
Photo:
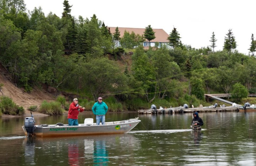
[[[45,16],[40,7],[26,13],[22,0],[0,3],[0,63],[28,92],[44,84],[75,93],[86,110],[102,96],[111,111],[149,108],[152,103],[196,106],[204,102],[204,93],[231,93],[236,83],[255,92],[256,59],[235,50],[231,29],[223,51],[183,45],[176,28],[168,38],[171,47],[145,50],[142,36],[125,32],[121,38],[118,27],[111,34],[95,14],[76,19],[67,0],[63,7],[59,18],[53,13]],[[144,38],[155,38],[150,25]],[[214,50],[214,33],[210,41]],[[254,46],[252,35],[251,52]],[[60,96],[58,102],[44,102],[40,111],[61,114],[69,106],[64,100]]]

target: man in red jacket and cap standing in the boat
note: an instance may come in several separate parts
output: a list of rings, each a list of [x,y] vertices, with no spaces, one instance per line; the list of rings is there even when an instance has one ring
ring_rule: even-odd
[[[68,125],[69,126],[78,126],[78,114],[79,112],[83,112],[84,107],[82,108],[78,105],[78,99],[75,98],[73,102],[70,104],[68,109]]]

